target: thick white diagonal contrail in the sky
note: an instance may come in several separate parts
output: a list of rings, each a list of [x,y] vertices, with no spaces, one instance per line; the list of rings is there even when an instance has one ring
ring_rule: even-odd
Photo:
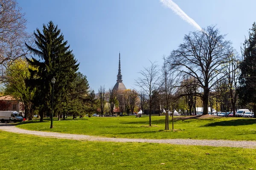
[[[172,0],[160,0],[164,6],[167,8],[171,8],[175,14],[179,15],[184,21],[189,23],[190,25],[194,26],[196,29],[202,31],[202,28],[192,19],[190,18],[180,7],[174,3]]]

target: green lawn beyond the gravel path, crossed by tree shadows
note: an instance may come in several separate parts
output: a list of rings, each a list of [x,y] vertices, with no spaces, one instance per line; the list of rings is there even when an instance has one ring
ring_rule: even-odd
[[[256,140],[256,119],[252,118],[175,119],[175,131],[164,131],[164,119],[165,116],[152,116],[152,127],[148,126],[147,116],[54,120],[53,129],[49,129],[50,121],[45,119],[45,122],[39,120],[21,122],[17,127],[117,138]],[[171,122],[170,128],[172,128]]]

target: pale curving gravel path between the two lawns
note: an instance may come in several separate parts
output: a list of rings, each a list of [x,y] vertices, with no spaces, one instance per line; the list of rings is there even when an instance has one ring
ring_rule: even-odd
[[[165,143],[165,144],[183,144],[214,147],[244,147],[256,148],[256,141],[230,141],[230,140],[198,140],[198,139],[127,139],[127,138],[107,138],[89,135],[76,135],[68,133],[43,132],[24,130],[13,125],[0,125],[0,130],[12,133],[23,133],[37,136],[45,136],[59,139],[86,140],[86,141],[104,141],[104,142],[147,142],[147,143]]]

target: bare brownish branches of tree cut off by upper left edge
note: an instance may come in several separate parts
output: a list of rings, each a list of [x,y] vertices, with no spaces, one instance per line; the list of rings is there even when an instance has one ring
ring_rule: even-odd
[[[0,0],[0,81],[3,73],[15,59],[25,57],[31,43],[26,32],[27,20],[16,0]]]

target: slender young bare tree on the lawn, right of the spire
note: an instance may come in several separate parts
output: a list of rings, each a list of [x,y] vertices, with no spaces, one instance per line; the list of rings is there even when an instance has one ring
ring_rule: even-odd
[[[153,91],[159,88],[158,80],[159,80],[159,71],[158,65],[156,62],[151,62],[151,65],[147,68],[144,67],[143,71],[140,71],[141,78],[136,80],[137,86],[139,86],[145,94],[148,96],[148,105],[149,105],[149,126],[151,126],[151,108],[152,108],[152,101],[153,101]]]

